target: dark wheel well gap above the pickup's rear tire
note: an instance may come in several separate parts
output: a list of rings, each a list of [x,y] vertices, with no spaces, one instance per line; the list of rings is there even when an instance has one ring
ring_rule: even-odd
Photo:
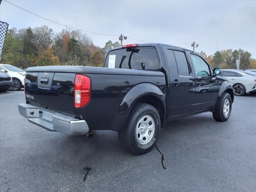
[[[164,106],[159,98],[157,98],[156,96],[147,95],[137,100],[136,103],[146,103],[154,106],[154,108],[156,108],[156,110],[159,113],[160,120],[161,120],[161,127],[164,125],[164,115],[165,115]]]

